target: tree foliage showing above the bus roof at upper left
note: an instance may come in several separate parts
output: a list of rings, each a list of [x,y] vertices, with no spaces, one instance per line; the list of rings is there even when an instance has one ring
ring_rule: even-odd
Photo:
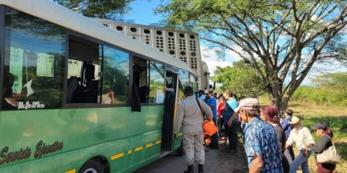
[[[129,4],[135,0],[53,0],[87,17],[124,21]]]

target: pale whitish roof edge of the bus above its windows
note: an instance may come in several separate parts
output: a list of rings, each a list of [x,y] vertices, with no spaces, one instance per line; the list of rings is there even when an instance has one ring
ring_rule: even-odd
[[[50,0],[0,0],[0,4],[193,74],[184,62]]]

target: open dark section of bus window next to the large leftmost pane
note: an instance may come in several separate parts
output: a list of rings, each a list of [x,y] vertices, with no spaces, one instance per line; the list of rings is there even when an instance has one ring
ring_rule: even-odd
[[[100,48],[102,46],[93,41],[69,36],[66,103],[98,103]]]

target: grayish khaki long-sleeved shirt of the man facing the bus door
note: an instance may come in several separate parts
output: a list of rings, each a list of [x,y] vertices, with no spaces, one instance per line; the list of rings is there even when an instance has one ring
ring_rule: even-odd
[[[207,114],[207,119],[212,118],[211,108],[200,98],[198,98],[203,112]],[[183,133],[200,132],[202,130],[203,116],[193,96],[184,98],[178,104],[178,110],[174,122],[174,133],[177,134],[180,127],[183,127]]]

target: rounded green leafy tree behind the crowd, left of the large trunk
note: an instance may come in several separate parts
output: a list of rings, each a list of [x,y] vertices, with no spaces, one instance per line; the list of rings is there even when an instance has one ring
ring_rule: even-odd
[[[244,61],[234,62],[233,66],[216,67],[213,82],[222,84],[222,89],[231,89],[239,97],[259,96],[265,92],[260,77],[251,65]]]

